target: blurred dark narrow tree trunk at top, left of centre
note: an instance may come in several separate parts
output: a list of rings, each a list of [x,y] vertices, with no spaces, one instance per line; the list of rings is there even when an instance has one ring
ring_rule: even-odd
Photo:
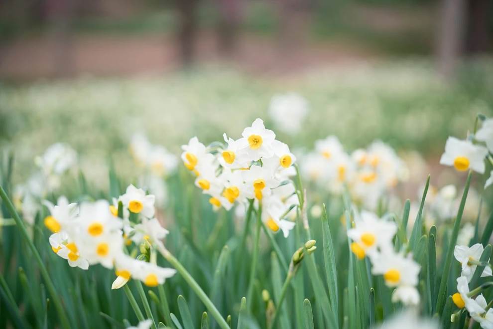
[[[194,61],[197,37],[197,4],[199,0],[176,0],[180,17],[178,43],[182,65],[190,66]]]

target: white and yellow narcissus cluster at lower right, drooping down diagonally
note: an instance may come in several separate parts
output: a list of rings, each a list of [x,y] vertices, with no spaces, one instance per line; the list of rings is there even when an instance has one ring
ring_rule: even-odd
[[[396,253],[393,238],[397,232],[395,222],[378,218],[374,213],[362,211],[355,218],[355,226],[348,230],[348,237],[353,241],[351,250],[358,259],[369,257],[374,275],[383,275],[388,287],[396,288],[392,302],[406,305],[419,303],[416,289],[420,266],[411,254]]]

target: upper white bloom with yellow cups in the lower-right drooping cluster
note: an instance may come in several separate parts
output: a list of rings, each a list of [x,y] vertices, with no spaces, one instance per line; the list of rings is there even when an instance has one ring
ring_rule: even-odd
[[[380,219],[374,213],[362,211],[355,220],[355,227],[348,230],[348,237],[353,240],[351,250],[363,259],[365,255],[373,257],[380,252],[392,249],[392,239],[397,232],[394,222]]]

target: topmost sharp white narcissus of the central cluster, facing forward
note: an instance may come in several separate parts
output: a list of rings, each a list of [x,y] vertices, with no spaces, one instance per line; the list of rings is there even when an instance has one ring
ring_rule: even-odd
[[[257,161],[263,157],[269,158],[274,154],[272,143],[275,140],[275,134],[273,131],[265,129],[262,119],[255,119],[251,127],[244,129],[242,136],[243,138],[239,140],[239,143],[246,145],[248,160]]]

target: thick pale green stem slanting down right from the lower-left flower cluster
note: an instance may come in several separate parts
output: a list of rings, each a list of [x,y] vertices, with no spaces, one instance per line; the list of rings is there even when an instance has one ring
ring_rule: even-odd
[[[204,303],[205,307],[211,315],[214,317],[219,327],[222,329],[230,329],[224,318],[219,313],[218,309],[211,302],[206,293],[200,288],[199,284],[194,280],[194,278],[188,273],[188,271],[181,265],[181,263],[162,245],[157,245],[157,250],[159,253],[181,274],[183,279],[188,283],[190,288],[197,294],[199,299]]]

